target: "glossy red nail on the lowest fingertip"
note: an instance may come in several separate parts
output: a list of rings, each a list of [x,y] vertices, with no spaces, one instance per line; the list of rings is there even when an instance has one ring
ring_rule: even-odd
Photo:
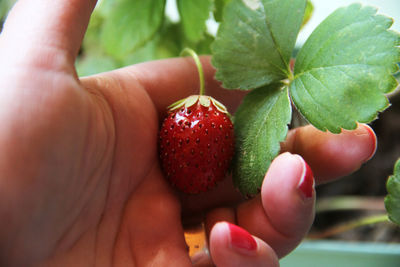
[[[244,254],[255,254],[257,242],[249,232],[231,223],[227,223],[230,231],[232,248]]]

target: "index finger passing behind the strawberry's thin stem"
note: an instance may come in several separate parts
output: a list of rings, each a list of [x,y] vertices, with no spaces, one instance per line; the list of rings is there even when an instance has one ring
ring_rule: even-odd
[[[214,79],[215,69],[210,63],[210,57],[202,56],[200,59],[206,95],[223,101],[228,111],[233,113],[244,93],[222,89],[220,82]],[[200,85],[196,64],[190,57],[145,62],[82,80],[98,84],[104,84],[104,80],[117,81],[118,86],[128,91],[132,90],[133,84],[139,84],[151,97],[159,113],[165,112],[166,107],[179,99],[199,94]]]

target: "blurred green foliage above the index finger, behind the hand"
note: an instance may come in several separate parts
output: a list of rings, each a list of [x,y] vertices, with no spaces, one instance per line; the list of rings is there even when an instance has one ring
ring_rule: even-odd
[[[80,76],[179,56],[190,46],[210,54],[214,37],[207,20],[229,0],[176,0],[179,20],[166,14],[166,0],[101,0],[91,17],[76,66]],[[218,2],[218,5],[216,4]]]

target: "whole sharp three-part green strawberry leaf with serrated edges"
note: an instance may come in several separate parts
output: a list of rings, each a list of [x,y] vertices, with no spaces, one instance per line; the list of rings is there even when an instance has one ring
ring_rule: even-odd
[[[235,114],[233,177],[258,192],[280,150],[293,107],[316,128],[340,133],[389,107],[400,35],[392,19],[360,4],[340,8],[311,34],[290,66],[306,0],[231,0],[212,45],[216,78],[251,90]]]

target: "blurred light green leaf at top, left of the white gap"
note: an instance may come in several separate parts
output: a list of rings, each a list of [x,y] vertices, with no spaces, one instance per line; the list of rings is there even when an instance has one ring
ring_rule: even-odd
[[[102,45],[107,53],[123,58],[143,46],[160,28],[165,0],[118,0],[109,11]]]

